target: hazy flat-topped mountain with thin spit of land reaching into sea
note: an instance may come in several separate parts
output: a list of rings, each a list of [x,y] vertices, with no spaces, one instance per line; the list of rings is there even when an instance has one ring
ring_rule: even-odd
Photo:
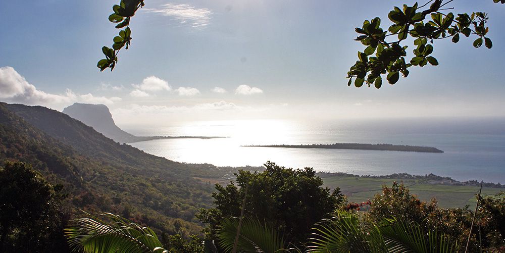
[[[105,105],[91,105],[74,103],[63,110],[64,114],[91,126],[99,133],[113,139],[119,143],[132,143],[137,141],[155,140],[155,139],[180,139],[180,138],[198,138],[211,139],[223,138],[219,136],[135,136],[123,131],[116,126],[109,108]]]

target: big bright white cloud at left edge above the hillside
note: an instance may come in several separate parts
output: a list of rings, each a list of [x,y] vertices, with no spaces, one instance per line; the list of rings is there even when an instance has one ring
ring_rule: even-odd
[[[66,89],[64,94],[51,94],[38,90],[33,84],[28,83],[12,67],[0,68],[0,99],[7,102],[23,103],[27,105],[52,106],[55,104],[68,104],[72,102],[84,102],[93,104],[113,104],[120,101],[120,97],[94,96],[88,94],[76,94]]]

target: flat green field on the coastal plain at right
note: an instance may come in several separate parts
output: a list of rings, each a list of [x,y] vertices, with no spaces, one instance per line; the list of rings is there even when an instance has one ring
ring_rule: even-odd
[[[354,176],[327,176],[322,177],[324,185],[334,189],[340,187],[347,195],[349,201],[362,202],[372,199],[376,193],[380,193],[382,185],[391,186],[394,181],[403,182],[409,186],[413,194],[421,200],[429,201],[435,197],[438,205],[443,208],[457,208],[470,205],[475,207],[475,194],[479,192],[478,186],[458,186],[443,184],[428,184],[420,180],[384,179],[384,178],[361,178]],[[494,195],[503,188],[482,188],[483,195]]]

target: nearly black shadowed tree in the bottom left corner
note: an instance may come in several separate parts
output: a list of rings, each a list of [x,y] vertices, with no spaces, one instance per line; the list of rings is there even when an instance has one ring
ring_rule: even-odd
[[[65,252],[62,187],[26,163],[0,167],[0,252]]]

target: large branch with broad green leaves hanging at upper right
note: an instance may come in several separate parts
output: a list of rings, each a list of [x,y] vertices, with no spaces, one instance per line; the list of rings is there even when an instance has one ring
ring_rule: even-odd
[[[486,37],[489,27],[486,27],[488,16],[483,12],[474,12],[471,15],[467,13],[455,16],[451,12],[445,14],[442,11],[453,8],[442,8],[453,0],[443,3],[443,0],[431,0],[423,6],[403,5],[403,9],[394,7],[389,12],[388,18],[393,24],[384,31],[380,25],[380,18],[365,20],[362,28],[356,28],[360,35],[355,39],[366,45],[364,52],[358,52],[359,61],[350,67],[347,72],[351,85],[353,78],[356,87],[363,86],[364,83],[374,84],[376,88],[382,86],[382,74],[387,74],[388,83],[395,84],[401,75],[405,78],[409,75],[409,68],[412,66],[424,67],[438,65],[436,58],[431,56],[433,53],[433,41],[435,39],[451,38],[452,42],[458,43],[460,34],[466,37],[476,35],[474,47],[478,48],[483,43],[487,48],[493,46],[491,39]],[[493,0],[495,3],[505,0]],[[433,2],[426,10],[420,10]],[[387,41],[396,35],[397,40]],[[406,61],[407,45],[402,42],[408,37],[415,38],[413,50],[414,57]]]

